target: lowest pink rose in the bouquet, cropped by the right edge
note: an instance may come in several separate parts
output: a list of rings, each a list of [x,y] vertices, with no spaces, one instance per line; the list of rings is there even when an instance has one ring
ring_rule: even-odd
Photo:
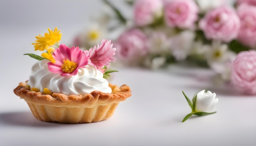
[[[231,82],[244,93],[256,94],[256,51],[238,53],[232,64]]]

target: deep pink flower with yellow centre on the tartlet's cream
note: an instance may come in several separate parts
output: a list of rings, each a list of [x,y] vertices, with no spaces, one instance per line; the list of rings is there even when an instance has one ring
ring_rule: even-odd
[[[61,73],[62,76],[76,75],[80,67],[88,64],[89,56],[81,51],[79,47],[67,47],[61,44],[58,49],[55,49],[52,57],[55,63],[48,62],[48,69],[52,73]]]

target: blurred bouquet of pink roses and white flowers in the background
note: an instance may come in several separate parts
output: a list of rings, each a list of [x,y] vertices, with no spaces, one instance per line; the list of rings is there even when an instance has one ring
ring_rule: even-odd
[[[123,64],[151,69],[197,64],[256,94],[255,0],[128,0],[131,17],[103,1],[106,11],[74,39],[75,46],[88,49],[104,36],[115,42]]]

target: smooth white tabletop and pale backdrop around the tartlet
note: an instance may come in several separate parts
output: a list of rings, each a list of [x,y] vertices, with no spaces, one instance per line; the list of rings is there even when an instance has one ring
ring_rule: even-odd
[[[1,2],[1,146],[256,145],[256,97],[240,95],[228,87],[213,87],[212,73],[204,69],[119,68],[111,82],[128,84],[132,97],[121,102],[110,119],[90,124],[60,124],[34,118],[26,102],[13,93],[19,82],[28,80],[36,61],[22,54],[35,53],[31,43],[48,27],[57,26],[63,33],[61,42],[70,43],[84,28],[88,13],[100,9],[98,4],[101,3],[78,0]],[[55,16],[51,15],[49,22],[45,20],[50,16],[46,6],[55,8]],[[181,123],[190,112],[182,90],[192,97],[202,89],[216,92],[217,113],[191,117]]]

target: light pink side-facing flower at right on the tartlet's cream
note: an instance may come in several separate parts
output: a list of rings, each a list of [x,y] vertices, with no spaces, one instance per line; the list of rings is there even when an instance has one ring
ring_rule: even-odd
[[[103,72],[103,67],[110,65],[111,61],[115,61],[112,56],[115,55],[115,48],[112,48],[111,40],[102,40],[101,44],[89,49],[90,60],[96,68]]]

